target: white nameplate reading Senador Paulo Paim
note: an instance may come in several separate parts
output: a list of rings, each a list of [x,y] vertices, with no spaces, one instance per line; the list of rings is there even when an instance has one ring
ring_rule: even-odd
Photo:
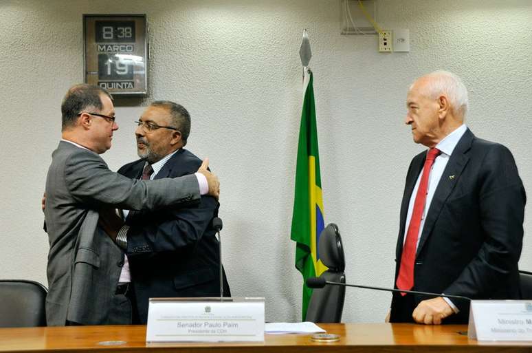
[[[146,342],[264,341],[264,298],[151,298]]]

